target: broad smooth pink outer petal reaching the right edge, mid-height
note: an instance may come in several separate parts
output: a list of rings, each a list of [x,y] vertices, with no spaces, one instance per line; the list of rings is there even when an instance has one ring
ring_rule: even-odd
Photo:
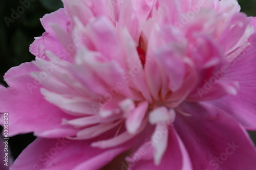
[[[252,45],[230,62],[230,67],[225,70],[224,76],[223,72],[216,74],[223,77],[223,81],[239,81],[238,94],[235,96],[228,95],[209,103],[232,115],[246,129],[256,130],[256,34],[250,38],[250,42]]]

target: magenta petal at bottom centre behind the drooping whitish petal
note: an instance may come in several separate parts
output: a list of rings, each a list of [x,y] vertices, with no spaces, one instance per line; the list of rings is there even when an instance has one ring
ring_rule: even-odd
[[[167,149],[164,153],[161,163],[157,166],[154,164],[151,143],[146,142],[142,145],[142,148],[137,150],[137,154],[129,158],[129,170],[144,170],[144,169],[175,169],[175,170],[192,170],[191,163],[188,157],[188,153],[180,140],[179,136],[175,132],[174,128],[169,126],[168,130],[160,128],[159,133],[168,135]],[[158,138],[153,139],[152,142],[156,144],[162,140],[160,135]]]

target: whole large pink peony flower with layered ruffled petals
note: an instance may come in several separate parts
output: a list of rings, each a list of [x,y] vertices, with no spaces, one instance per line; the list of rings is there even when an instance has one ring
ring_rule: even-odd
[[[38,137],[12,170],[100,169],[124,152],[118,169],[256,168],[256,19],[237,1],[63,4],[0,89],[9,135]]]

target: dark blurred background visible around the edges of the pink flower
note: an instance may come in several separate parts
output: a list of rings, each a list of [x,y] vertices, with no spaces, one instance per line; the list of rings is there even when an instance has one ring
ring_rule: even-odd
[[[248,16],[256,16],[256,0],[239,0],[239,4]],[[7,25],[7,17],[11,18],[13,9],[16,11],[20,5],[18,0],[0,0],[0,83],[4,85],[6,83],[3,76],[9,68],[34,59],[29,52],[29,45],[34,41],[34,37],[44,32],[39,18],[62,7],[60,0],[33,0],[17,19],[8,20]],[[256,143],[256,133],[249,133]],[[13,157],[16,158],[34,139],[33,134],[10,138]]]

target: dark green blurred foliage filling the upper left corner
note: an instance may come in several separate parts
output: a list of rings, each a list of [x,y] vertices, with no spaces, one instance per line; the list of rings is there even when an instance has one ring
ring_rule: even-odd
[[[34,41],[34,37],[44,32],[39,18],[63,7],[60,0],[35,0],[23,13],[20,10],[19,17],[13,19],[13,22],[10,21],[8,27],[5,18],[12,19],[12,9],[17,12],[17,8],[22,6],[20,1],[0,0],[0,83],[2,84],[5,84],[3,76],[9,68],[34,59],[29,52],[29,45]]]

